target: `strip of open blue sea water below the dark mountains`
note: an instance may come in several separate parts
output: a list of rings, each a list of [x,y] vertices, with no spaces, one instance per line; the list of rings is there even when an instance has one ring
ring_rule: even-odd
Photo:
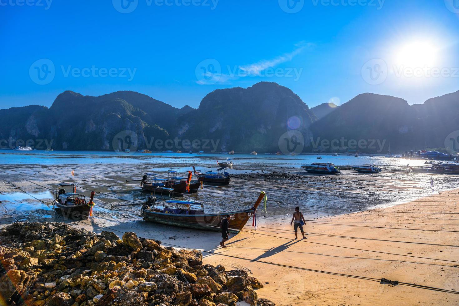
[[[322,159],[318,160],[317,157]],[[217,165],[218,161],[225,161],[231,158],[237,165],[264,164],[280,167],[300,167],[303,164],[313,162],[331,162],[335,165],[355,166],[362,164],[377,164],[379,166],[407,166],[409,163],[412,166],[423,164],[422,161],[407,161],[400,158],[386,158],[384,156],[359,156],[353,155],[275,155],[263,154],[219,154],[219,153],[204,153],[197,155],[196,153],[130,153],[113,151],[15,151],[15,150],[0,150],[0,164],[39,164],[39,165],[62,165],[62,164],[171,164],[175,163],[178,166],[188,166],[192,164]]]

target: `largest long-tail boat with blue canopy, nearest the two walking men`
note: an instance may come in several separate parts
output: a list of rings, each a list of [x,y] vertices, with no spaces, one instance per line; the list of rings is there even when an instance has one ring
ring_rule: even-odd
[[[229,215],[229,232],[239,233],[265,197],[262,191],[255,204],[247,210],[204,214],[204,206],[199,202],[168,200],[160,205],[155,197],[149,196],[142,206],[141,215],[149,222],[211,231],[220,231],[222,220]]]

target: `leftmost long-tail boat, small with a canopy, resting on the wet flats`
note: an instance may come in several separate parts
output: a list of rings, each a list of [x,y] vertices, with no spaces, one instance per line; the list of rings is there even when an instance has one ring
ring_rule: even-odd
[[[71,188],[71,192],[67,192],[64,188],[67,190]],[[92,191],[89,202],[86,202],[84,195],[77,194],[75,184],[60,183],[56,186],[54,205],[61,210],[64,217],[74,220],[88,219],[94,206],[94,195],[95,192]]]

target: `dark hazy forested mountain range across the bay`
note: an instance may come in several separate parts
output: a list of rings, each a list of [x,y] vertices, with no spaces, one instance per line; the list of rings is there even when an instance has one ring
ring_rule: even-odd
[[[50,108],[13,107],[0,110],[0,116],[1,148],[46,139],[54,150],[113,150],[117,135],[132,131],[140,150],[161,150],[155,141],[174,139],[190,144],[174,143],[172,150],[193,150],[198,139],[213,140],[218,151],[275,153],[282,135],[296,130],[304,136],[302,152],[317,150],[324,139],[337,139],[339,146],[342,139],[363,139],[379,140],[380,146],[361,152],[386,153],[444,148],[446,136],[459,128],[459,91],[411,106],[365,93],[341,106],[311,109],[291,89],[269,82],[215,90],[197,109],[175,108],[133,91],[98,97],[65,91]]]

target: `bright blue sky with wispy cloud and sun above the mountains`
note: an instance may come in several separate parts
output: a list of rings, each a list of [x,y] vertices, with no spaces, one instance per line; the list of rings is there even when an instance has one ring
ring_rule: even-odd
[[[260,81],[310,107],[459,90],[459,0],[27,1],[0,0],[0,108],[65,90],[197,107]]]

